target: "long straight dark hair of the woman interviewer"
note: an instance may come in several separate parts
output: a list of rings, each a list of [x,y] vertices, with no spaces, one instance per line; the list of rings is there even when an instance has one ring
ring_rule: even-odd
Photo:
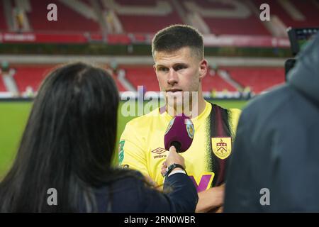
[[[79,62],[51,72],[0,183],[0,211],[78,211],[81,201],[94,211],[91,189],[124,171],[111,167],[118,101],[112,77],[101,68]],[[57,206],[47,204],[50,188],[57,190]]]

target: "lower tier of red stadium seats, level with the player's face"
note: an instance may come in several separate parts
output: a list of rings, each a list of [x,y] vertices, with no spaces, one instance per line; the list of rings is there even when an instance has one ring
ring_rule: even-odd
[[[20,92],[25,92],[27,87],[32,87],[34,91],[38,90],[40,82],[44,79],[45,74],[50,72],[52,65],[20,65],[13,66],[16,69],[14,75],[16,84]],[[122,66],[125,70],[125,78],[130,84],[138,89],[138,86],[144,85],[147,92],[159,92],[159,85],[152,66]],[[226,70],[230,77],[235,79],[242,87],[250,87],[252,92],[259,94],[267,89],[284,82],[284,69],[275,67],[227,67]],[[116,75],[113,75],[118,90],[125,92],[127,89],[119,82]],[[236,92],[237,89],[219,74],[210,75],[209,73],[203,79],[203,92]],[[5,91],[4,85],[0,84],[0,89]],[[2,91],[1,90],[1,91]]]

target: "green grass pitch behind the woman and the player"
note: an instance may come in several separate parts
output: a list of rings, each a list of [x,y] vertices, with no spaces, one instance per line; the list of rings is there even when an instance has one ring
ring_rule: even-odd
[[[213,101],[213,103],[225,108],[242,109],[247,101]],[[118,109],[118,139],[125,123],[134,118],[124,117],[121,114],[122,104]],[[30,102],[0,101],[0,179],[12,165],[31,107]],[[114,162],[117,162],[117,155],[114,155]]]

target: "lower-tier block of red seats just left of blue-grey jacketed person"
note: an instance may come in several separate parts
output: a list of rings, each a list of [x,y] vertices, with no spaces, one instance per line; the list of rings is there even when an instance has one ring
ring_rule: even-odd
[[[242,87],[250,87],[254,94],[284,83],[283,68],[230,67],[227,70],[236,82]]]

